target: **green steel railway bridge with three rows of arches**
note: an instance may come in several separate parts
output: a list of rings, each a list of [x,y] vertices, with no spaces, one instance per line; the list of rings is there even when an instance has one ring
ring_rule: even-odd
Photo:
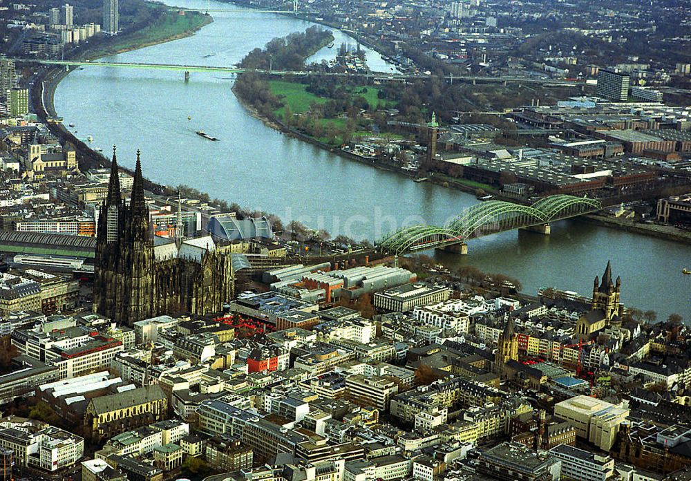
[[[533,205],[489,200],[468,207],[443,227],[424,224],[401,227],[381,238],[375,246],[379,251],[395,256],[447,247],[454,247],[455,252],[466,254],[465,242],[469,239],[513,229],[531,229],[549,234],[549,223],[602,208],[602,203],[597,199],[565,194],[542,198]]]

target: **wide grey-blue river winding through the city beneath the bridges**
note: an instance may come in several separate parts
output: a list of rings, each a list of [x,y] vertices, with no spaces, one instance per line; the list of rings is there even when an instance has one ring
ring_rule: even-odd
[[[203,0],[167,0],[203,8]],[[211,2],[211,8],[232,8]],[[214,23],[196,35],[121,55],[118,62],[229,66],[252,48],[274,37],[305,30],[310,23],[258,12],[216,12]],[[328,59],[342,41],[314,60]],[[367,50],[372,70],[390,71],[377,53]],[[283,220],[301,220],[332,235],[379,238],[410,223],[441,225],[477,202],[471,195],[344,159],[281,135],[249,115],[231,92],[232,79],[215,73],[88,67],[64,79],[55,94],[57,113],[73,123],[79,138],[92,135],[93,146],[134,167],[142,150],[144,176],[167,185],[187,184],[214,198],[272,212]],[[191,117],[191,120],[188,120]],[[202,129],[220,139],[209,142]],[[589,294],[594,276],[608,259],[622,278],[627,305],[653,309],[659,319],[678,312],[691,320],[691,247],[629,234],[616,229],[564,221],[551,236],[507,232],[471,241],[468,256],[437,253],[455,267],[476,265],[522,282],[524,291],[553,286]]]

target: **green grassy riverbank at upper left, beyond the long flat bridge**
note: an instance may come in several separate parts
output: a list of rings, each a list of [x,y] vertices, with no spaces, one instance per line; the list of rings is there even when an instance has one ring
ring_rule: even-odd
[[[147,2],[150,8],[160,8],[160,5]],[[106,55],[115,55],[137,48],[143,48],[155,44],[162,44],[166,41],[177,40],[193,35],[203,26],[214,21],[210,15],[201,12],[184,12],[180,15],[177,9],[167,8],[151,25],[137,30],[129,35],[118,37],[107,45],[97,46],[93,50],[88,50],[88,59],[97,59]]]

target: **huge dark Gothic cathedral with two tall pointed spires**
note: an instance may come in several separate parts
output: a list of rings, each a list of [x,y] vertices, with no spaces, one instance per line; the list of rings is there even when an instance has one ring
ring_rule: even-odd
[[[153,236],[140,153],[128,205],[120,194],[113,149],[108,194],[98,220],[95,312],[131,326],[162,314],[222,310],[234,291],[230,254],[211,236],[182,238],[179,213],[178,223],[174,241]]]

